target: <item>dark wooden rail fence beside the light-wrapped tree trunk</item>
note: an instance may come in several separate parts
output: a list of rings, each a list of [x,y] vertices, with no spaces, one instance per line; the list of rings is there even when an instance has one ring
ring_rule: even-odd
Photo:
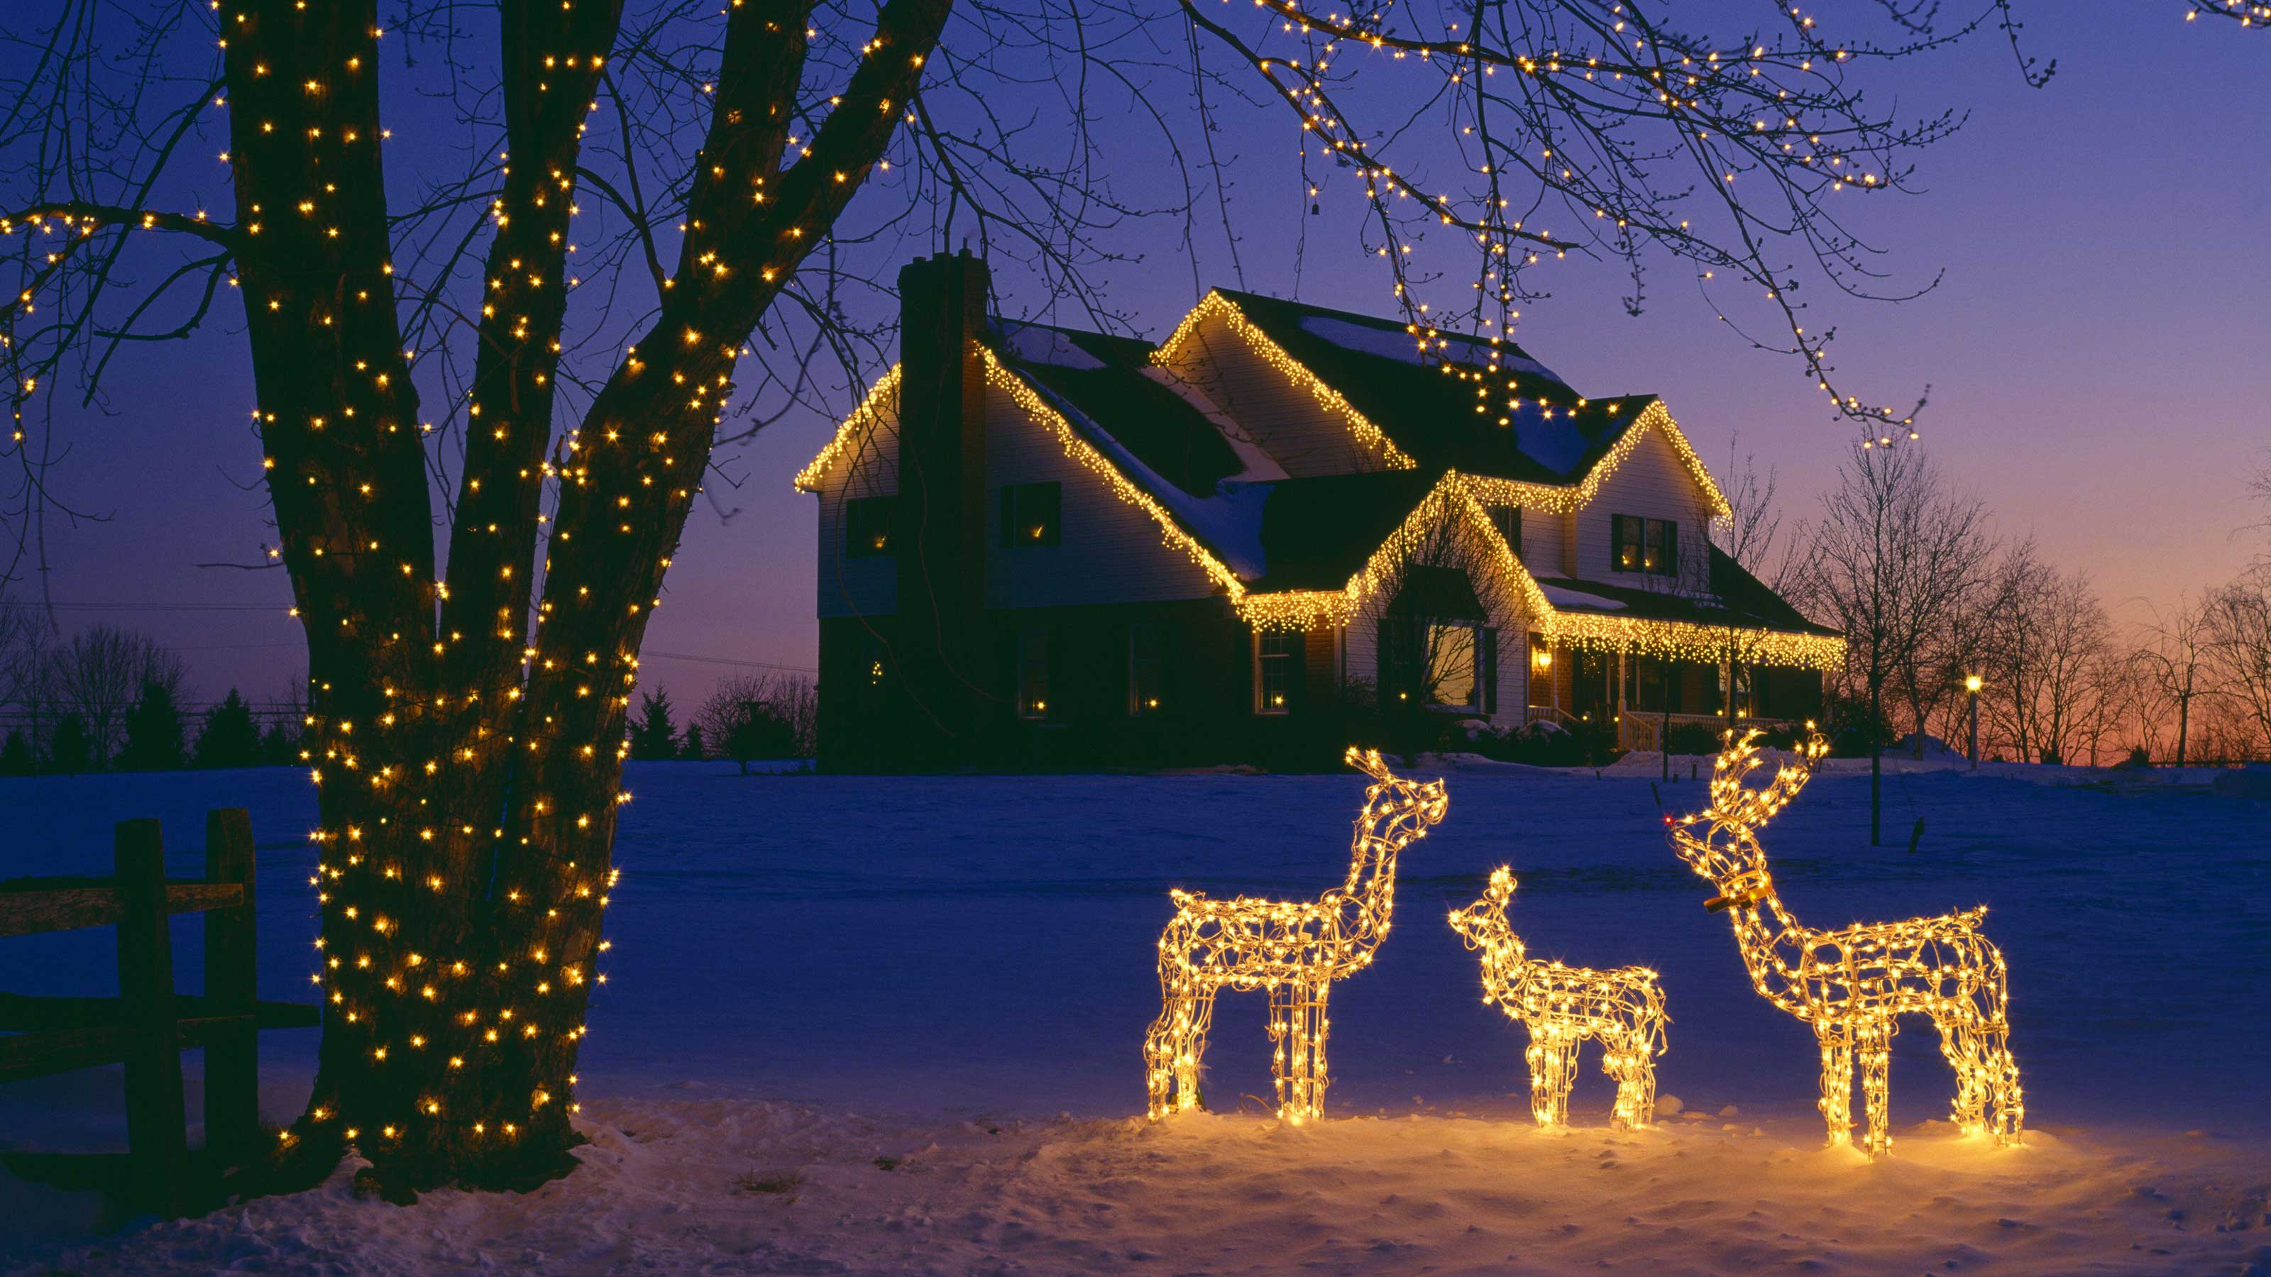
[[[120,820],[111,877],[0,882],[0,936],[118,927],[118,998],[0,993],[0,1082],[125,1063],[127,1154],[7,1154],[25,1179],[107,1188],[179,1216],[261,1147],[259,1032],[313,1027],[304,1002],[257,995],[252,818],[204,818],[204,877],[168,879],[157,820]],[[204,993],[173,988],[173,913],[204,913]],[[204,1048],[204,1154],[191,1159],[182,1052]]]

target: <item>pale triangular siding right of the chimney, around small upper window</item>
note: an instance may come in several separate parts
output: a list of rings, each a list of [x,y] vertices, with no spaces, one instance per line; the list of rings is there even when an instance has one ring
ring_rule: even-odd
[[[1002,486],[1063,484],[1056,545],[1002,548]],[[1217,591],[1158,523],[1065,454],[999,386],[986,389],[986,607],[1156,602]]]

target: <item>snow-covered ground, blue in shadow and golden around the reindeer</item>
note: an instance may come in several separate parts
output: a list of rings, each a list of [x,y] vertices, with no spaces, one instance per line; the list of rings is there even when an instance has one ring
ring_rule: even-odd
[[[1265,1116],[1258,995],[1222,1000],[1215,1116],[1145,1127],[1138,1041],[1165,888],[1315,895],[1347,873],[1356,777],[652,763],[631,768],[581,1172],[411,1209],[341,1177],[104,1238],[89,1202],[0,1177],[0,1272],[2271,1272],[2271,807],[1896,770],[1871,850],[1867,779],[1819,777],[1765,836],[1785,900],[1817,925],[1992,904],[2028,1088],[2026,1147],[1958,1138],[1914,1025],[1894,1157],[1867,1166],[1819,1147],[1812,1038],[1751,995],[1710,888],[1665,848],[1653,761],[1442,768],[1451,813],[1403,859],[1399,927],[1333,991],[1319,1127]],[[295,998],[298,773],[0,782],[0,877],[102,873],[123,816],[161,816],[193,873],[220,804],[254,813],[263,993]],[[1662,973],[1678,1116],[1606,1132],[1587,1052],[1576,1129],[1531,1129],[1522,1034],[1442,925],[1508,861],[1533,952]],[[109,954],[109,932],[0,941],[0,988],[100,993]],[[282,1118],[313,1032],[263,1048]],[[0,1086],[0,1145],[118,1132],[116,1075]]]

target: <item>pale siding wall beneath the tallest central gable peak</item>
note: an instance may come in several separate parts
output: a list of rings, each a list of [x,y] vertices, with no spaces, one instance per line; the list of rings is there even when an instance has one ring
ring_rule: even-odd
[[[1260,359],[1222,314],[1206,316],[1183,339],[1172,370],[1215,400],[1294,479],[1385,468],[1378,448],[1349,429],[1349,418]],[[1329,368],[1317,375],[1333,377]]]

